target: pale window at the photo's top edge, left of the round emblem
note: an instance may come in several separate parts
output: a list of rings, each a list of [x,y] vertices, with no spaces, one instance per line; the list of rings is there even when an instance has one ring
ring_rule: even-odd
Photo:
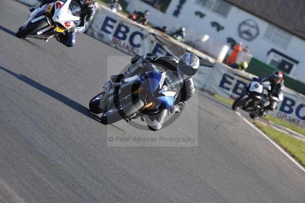
[[[210,9],[224,17],[229,15],[232,6],[223,0],[196,0],[196,4]]]

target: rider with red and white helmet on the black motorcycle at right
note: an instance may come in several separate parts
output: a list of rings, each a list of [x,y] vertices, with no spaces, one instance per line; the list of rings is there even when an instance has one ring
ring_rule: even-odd
[[[275,110],[279,101],[283,100],[284,91],[284,79],[283,73],[281,71],[275,71],[267,77],[258,78],[260,83],[269,81],[271,85],[271,90],[269,91],[270,104],[265,108],[263,114],[266,114],[268,110]]]

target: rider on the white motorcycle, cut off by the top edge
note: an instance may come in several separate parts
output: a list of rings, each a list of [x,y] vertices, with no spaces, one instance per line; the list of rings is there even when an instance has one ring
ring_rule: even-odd
[[[55,0],[43,0],[41,6],[54,2]],[[72,47],[75,45],[76,33],[83,33],[87,30],[90,21],[93,19],[96,13],[96,7],[94,3],[96,0],[74,0],[79,4],[81,8],[80,23],[77,27],[73,27],[66,31],[65,34],[58,36],[58,41],[66,45],[67,47]]]

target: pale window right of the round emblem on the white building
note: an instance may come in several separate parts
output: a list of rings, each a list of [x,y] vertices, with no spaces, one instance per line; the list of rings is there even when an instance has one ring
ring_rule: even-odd
[[[273,44],[287,49],[292,36],[280,28],[270,24],[265,32],[264,37],[270,40]]]

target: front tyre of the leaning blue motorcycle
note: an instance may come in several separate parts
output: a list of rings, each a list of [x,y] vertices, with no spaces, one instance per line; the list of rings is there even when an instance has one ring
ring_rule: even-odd
[[[135,99],[133,102],[125,105],[123,109],[114,109],[107,111],[101,116],[101,123],[104,125],[113,124],[122,119],[128,118],[135,112],[139,111],[144,106],[144,102],[140,99]],[[111,109],[110,109],[111,110]]]

